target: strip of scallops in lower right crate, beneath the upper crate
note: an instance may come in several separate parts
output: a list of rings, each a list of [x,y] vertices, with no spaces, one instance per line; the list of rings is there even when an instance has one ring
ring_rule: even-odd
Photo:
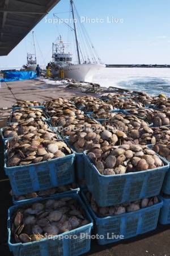
[[[151,207],[152,205],[158,204],[159,199],[157,196],[141,199],[138,201],[133,201],[131,203],[115,205],[111,207],[99,207],[95,199],[92,197],[91,193],[87,191],[85,193],[88,202],[91,205],[92,210],[94,210],[97,217],[104,218],[108,216],[116,216],[124,213],[135,212],[146,207]]]

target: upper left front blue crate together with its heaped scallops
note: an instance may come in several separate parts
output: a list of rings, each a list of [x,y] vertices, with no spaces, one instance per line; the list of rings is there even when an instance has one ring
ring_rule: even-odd
[[[14,195],[75,181],[75,154],[65,141],[21,139],[11,144],[5,152],[4,169]]]

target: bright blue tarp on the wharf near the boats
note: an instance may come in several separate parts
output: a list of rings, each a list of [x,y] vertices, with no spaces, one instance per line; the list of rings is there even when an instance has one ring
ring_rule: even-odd
[[[29,80],[37,77],[33,71],[7,71],[4,76],[5,79],[1,79],[1,82]]]

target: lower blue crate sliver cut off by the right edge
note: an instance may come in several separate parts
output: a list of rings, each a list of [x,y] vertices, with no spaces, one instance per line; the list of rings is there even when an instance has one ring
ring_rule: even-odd
[[[170,198],[166,199],[162,197],[163,207],[160,211],[159,222],[160,224],[170,224]]]

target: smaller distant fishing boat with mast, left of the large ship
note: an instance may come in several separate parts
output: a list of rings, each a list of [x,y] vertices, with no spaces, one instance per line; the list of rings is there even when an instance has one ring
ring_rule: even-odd
[[[32,38],[33,38],[33,49],[34,53],[27,53],[27,64],[23,65],[23,67],[27,71],[34,71],[36,72],[37,67],[37,54],[36,54],[36,43],[35,43],[35,35],[34,31],[32,31]]]

